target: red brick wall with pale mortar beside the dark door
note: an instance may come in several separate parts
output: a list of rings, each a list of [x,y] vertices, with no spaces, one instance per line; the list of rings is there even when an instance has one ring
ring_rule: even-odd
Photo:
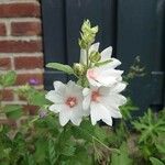
[[[12,92],[37,79],[43,88],[41,8],[37,0],[0,0],[0,73],[15,70],[16,84],[3,91],[3,102],[25,103]]]

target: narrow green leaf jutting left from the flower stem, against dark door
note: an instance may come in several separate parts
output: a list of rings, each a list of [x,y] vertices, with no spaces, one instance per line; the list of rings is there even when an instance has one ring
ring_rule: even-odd
[[[64,65],[59,63],[48,63],[46,67],[64,72],[68,75],[74,75],[74,69],[69,65]]]

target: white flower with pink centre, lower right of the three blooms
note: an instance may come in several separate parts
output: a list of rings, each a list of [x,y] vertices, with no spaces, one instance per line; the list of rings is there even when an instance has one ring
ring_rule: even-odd
[[[91,123],[102,120],[108,125],[112,125],[112,118],[121,118],[119,107],[127,102],[125,97],[120,92],[125,88],[124,82],[118,82],[111,88],[91,87],[84,89],[84,110],[89,111]]]

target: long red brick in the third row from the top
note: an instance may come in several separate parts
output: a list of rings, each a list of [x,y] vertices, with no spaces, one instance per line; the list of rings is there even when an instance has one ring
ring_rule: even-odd
[[[42,41],[0,41],[1,53],[42,52]]]

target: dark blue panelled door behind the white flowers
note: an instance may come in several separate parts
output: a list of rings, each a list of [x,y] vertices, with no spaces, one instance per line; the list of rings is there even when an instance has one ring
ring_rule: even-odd
[[[141,56],[147,75],[130,85],[141,110],[165,105],[164,0],[42,0],[42,13],[45,64],[79,61],[77,38],[82,21],[89,19],[100,28],[100,48],[113,46],[122,69],[128,70],[134,57]],[[45,68],[45,89],[57,79],[66,81],[67,76]]]

